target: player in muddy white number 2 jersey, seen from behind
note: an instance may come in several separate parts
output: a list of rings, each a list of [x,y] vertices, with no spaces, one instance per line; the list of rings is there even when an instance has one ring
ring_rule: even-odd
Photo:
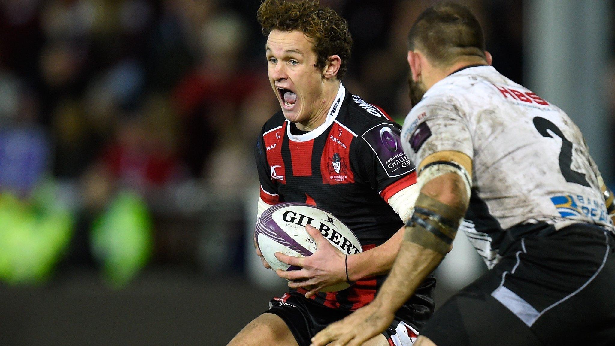
[[[360,345],[383,330],[464,214],[491,270],[438,309],[415,345],[615,345],[613,195],[578,127],[490,66],[466,7],[425,10],[408,43],[419,101],[402,143],[420,195],[376,299],[314,345]]]

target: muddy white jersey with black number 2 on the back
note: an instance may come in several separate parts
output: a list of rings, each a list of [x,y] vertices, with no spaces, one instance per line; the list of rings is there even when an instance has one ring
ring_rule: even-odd
[[[463,225],[488,264],[512,229],[588,222],[613,230],[579,128],[492,66],[470,66],[434,84],[408,114],[402,145],[415,166],[442,150],[472,158]]]

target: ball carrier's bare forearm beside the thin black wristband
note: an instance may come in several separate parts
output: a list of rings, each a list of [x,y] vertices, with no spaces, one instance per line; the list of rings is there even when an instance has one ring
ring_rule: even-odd
[[[347,259],[350,281],[358,281],[367,276],[386,274],[391,270],[395,256],[399,252],[404,227],[400,228],[386,243],[360,254],[349,255]]]

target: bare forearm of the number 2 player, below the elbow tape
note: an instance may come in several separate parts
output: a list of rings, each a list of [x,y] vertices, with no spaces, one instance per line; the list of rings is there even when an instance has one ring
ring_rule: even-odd
[[[402,241],[391,273],[376,296],[375,304],[394,313],[416,291],[444,255],[411,241]]]

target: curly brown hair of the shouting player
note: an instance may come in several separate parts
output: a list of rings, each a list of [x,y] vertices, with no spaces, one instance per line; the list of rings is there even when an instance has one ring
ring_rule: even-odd
[[[265,36],[269,36],[272,30],[301,30],[314,43],[317,57],[315,66],[320,70],[325,68],[331,55],[339,55],[341,65],[336,78],[344,78],[352,37],[348,31],[348,23],[334,10],[319,8],[318,0],[265,0],[258,8],[256,18],[263,26]]]

